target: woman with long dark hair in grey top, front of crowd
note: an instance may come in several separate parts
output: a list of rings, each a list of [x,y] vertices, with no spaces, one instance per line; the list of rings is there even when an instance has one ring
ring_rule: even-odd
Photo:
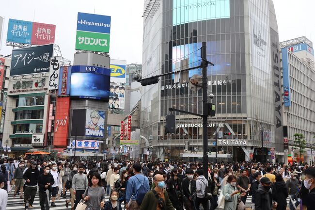
[[[94,172],[89,178],[88,187],[86,188],[83,200],[87,206],[86,210],[100,210],[105,204],[105,189],[102,187],[101,176]]]

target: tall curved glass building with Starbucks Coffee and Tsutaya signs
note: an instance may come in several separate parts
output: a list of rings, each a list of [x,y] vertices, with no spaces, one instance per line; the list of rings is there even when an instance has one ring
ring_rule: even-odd
[[[283,160],[278,26],[272,1],[145,0],[143,18],[142,78],[200,65],[200,48],[206,42],[207,59],[215,64],[207,68],[208,91],[215,95],[209,102],[217,108],[207,125],[209,161],[214,161],[216,135],[221,161]],[[164,132],[170,107],[202,113],[202,90],[189,87],[193,75],[201,75],[201,69],[164,76],[142,88],[141,133],[150,137],[152,158],[202,158],[200,117],[175,113],[176,132]]]

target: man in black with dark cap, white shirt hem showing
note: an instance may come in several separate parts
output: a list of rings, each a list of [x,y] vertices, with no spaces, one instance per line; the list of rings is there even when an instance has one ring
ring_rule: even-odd
[[[33,208],[34,198],[37,192],[37,179],[39,176],[38,168],[36,168],[37,163],[31,162],[31,167],[29,167],[23,175],[25,182],[24,190],[24,202],[29,200],[29,208]]]

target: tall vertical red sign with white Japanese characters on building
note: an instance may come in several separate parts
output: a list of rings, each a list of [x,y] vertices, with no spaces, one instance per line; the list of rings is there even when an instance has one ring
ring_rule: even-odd
[[[57,97],[53,140],[53,145],[55,146],[67,145],[69,109],[70,98]]]

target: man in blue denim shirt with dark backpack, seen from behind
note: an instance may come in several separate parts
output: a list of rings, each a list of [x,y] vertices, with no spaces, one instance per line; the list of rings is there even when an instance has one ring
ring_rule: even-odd
[[[126,201],[128,205],[127,210],[139,210],[144,195],[150,190],[149,180],[140,172],[142,170],[140,163],[132,165],[134,176],[128,179],[128,186],[126,192]]]

